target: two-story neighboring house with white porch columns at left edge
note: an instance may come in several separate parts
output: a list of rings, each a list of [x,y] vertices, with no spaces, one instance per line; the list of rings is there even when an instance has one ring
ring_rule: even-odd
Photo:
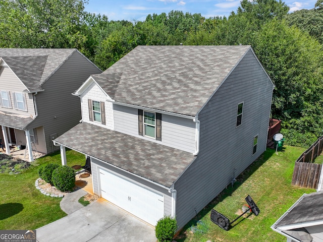
[[[52,140],[79,123],[80,102],[71,95],[101,71],[77,49],[0,48],[0,138],[47,154]]]

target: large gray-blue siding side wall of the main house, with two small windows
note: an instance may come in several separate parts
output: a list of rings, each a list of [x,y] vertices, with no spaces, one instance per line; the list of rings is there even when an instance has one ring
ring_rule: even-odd
[[[175,183],[179,228],[265,151],[272,90],[250,50],[200,111],[200,152]],[[240,102],[242,124],[236,128]],[[257,152],[252,155],[256,135]]]

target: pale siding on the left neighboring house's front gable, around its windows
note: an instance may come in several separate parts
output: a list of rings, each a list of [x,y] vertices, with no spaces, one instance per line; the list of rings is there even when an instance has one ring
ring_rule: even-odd
[[[16,114],[22,114],[30,116],[30,114],[35,114],[34,102],[32,94],[23,93],[22,91],[26,89],[23,83],[17,78],[17,76],[8,67],[0,67],[0,90],[9,91],[11,106],[12,108],[6,108],[0,106],[0,111],[12,112]],[[14,103],[14,92],[23,93],[26,97],[27,111],[15,109]]]

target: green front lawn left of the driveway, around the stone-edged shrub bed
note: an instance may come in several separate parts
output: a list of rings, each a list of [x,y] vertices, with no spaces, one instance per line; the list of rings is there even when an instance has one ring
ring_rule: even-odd
[[[84,155],[66,151],[69,166],[84,165]],[[62,198],[51,198],[35,188],[38,167],[61,164],[59,152],[41,157],[20,174],[0,173],[0,229],[36,229],[66,216],[60,208]]]

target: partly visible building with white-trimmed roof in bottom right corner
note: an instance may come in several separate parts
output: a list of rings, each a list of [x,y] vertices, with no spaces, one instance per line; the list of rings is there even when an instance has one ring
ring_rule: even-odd
[[[323,192],[304,194],[271,228],[287,242],[322,242]]]

